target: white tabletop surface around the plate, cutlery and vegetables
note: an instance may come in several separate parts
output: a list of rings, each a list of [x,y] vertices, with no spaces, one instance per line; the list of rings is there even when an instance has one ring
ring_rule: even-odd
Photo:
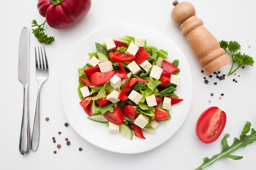
[[[54,36],[56,42],[45,45],[50,66],[49,78],[41,91],[41,133],[36,152],[23,156],[18,150],[22,119],[23,87],[18,81],[18,43],[23,26],[31,28],[32,20],[43,23],[36,8],[37,2],[31,0],[3,1],[0,6],[0,169],[175,169],[193,170],[200,166],[204,157],[211,157],[222,150],[221,139],[230,134],[229,144],[239,137],[246,121],[256,128],[256,66],[239,69],[236,75],[219,81],[208,78],[204,84],[201,68],[193,57],[189,44],[181,35],[180,28],[171,21],[172,1],[161,0],[94,0],[88,15],[70,29],[56,30],[48,25],[46,33]],[[236,40],[242,46],[242,53],[256,60],[256,25],[254,9],[256,2],[244,0],[191,0],[197,10],[198,18],[204,26],[220,40]],[[117,154],[98,148],[81,138],[71,126],[65,127],[67,118],[61,102],[61,73],[63,64],[74,46],[86,35],[106,24],[115,22],[134,22],[148,25],[171,38],[186,56],[193,80],[193,100],[189,114],[177,133],[161,146],[139,154]],[[31,30],[30,30],[31,31]],[[125,34],[125,33],[124,33]],[[30,75],[29,111],[30,128],[34,120],[36,92],[38,83],[34,68],[34,46],[39,42],[30,32]],[[249,48],[250,46],[250,48]],[[223,67],[221,74],[227,74],[230,64]],[[240,77],[238,77],[240,75]],[[236,79],[235,83],[232,79]],[[214,85],[213,82],[217,82]],[[210,94],[214,93],[214,96]],[[224,93],[222,99],[220,94]],[[209,99],[211,102],[209,103]],[[227,114],[227,124],[220,138],[212,144],[203,144],[195,135],[195,124],[199,115],[210,106],[218,106]],[[49,121],[45,121],[49,117]],[[61,135],[58,135],[61,131]],[[56,143],[52,142],[56,137]],[[68,137],[71,144],[65,144]],[[56,144],[61,144],[60,149]],[[83,150],[79,151],[78,148]],[[240,148],[233,155],[244,156],[241,160],[222,159],[205,170],[252,169],[256,157],[256,144]],[[54,154],[53,151],[57,150]]]

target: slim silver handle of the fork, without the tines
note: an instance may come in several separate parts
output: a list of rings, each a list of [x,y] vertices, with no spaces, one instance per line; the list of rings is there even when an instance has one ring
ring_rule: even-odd
[[[38,93],[37,93],[37,99],[36,99],[36,113],[34,118],[34,126],[33,126],[33,132],[32,132],[32,140],[31,140],[31,149],[33,151],[36,151],[39,144],[39,104],[40,104],[40,89],[41,84],[39,84],[38,87]]]

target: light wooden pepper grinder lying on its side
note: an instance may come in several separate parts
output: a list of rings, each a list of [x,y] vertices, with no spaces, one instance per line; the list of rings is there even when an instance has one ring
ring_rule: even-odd
[[[189,2],[173,2],[171,19],[181,28],[189,45],[199,60],[204,72],[209,75],[231,62],[225,50],[220,48],[218,40],[207,30],[203,21],[195,16],[195,7]]]

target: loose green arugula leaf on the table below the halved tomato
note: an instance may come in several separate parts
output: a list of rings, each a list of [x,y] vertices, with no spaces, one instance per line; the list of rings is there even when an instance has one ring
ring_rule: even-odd
[[[234,138],[234,142],[232,145],[228,145],[227,138],[230,136],[229,134],[226,134],[224,138],[221,141],[222,144],[222,151],[219,154],[213,155],[210,159],[208,157],[204,158],[204,163],[200,165],[195,170],[202,170],[203,168],[211,165],[215,161],[222,159],[222,158],[230,158],[234,160],[242,159],[242,156],[236,156],[236,155],[230,155],[232,152],[238,150],[241,147],[245,147],[249,144],[252,144],[254,141],[256,141],[256,131],[252,128],[251,129],[251,123],[249,121],[246,122],[245,127],[243,128],[243,131],[240,135],[240,139]],[[251,129],[251,134],[246,135]]]

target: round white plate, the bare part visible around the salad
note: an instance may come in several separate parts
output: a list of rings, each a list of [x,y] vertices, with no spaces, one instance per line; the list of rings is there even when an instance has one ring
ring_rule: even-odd
[[[96,52],[95,42],[102,44],[109,38],[119,40],[125,35],[144,36],[147,46],[156,46],[158,49],[168,51],[168,61],[180,60],[180,86],[177,87],[175,93],[184,100],[172,106],[172,119],[161,122],[157,133],[144,132],[146,139],[133,136],[132,140],[128,140],[121,135],[121,132],[119,134],[109,134],[106,124],[88,119],[88,115],[79,104],[80,98],[77,93],[77,87],[79,86],[78,68],[83,67],[89,60],[88,53]],[[104,26],[90,33],[74,47],[63,68],[61,91],[67,119],[81,137],[105,150],[132,154],[156,148],[172,137],[180,128],[191,105],[192,79],[184,54],[166,35],[143,25],[118,23]]]

